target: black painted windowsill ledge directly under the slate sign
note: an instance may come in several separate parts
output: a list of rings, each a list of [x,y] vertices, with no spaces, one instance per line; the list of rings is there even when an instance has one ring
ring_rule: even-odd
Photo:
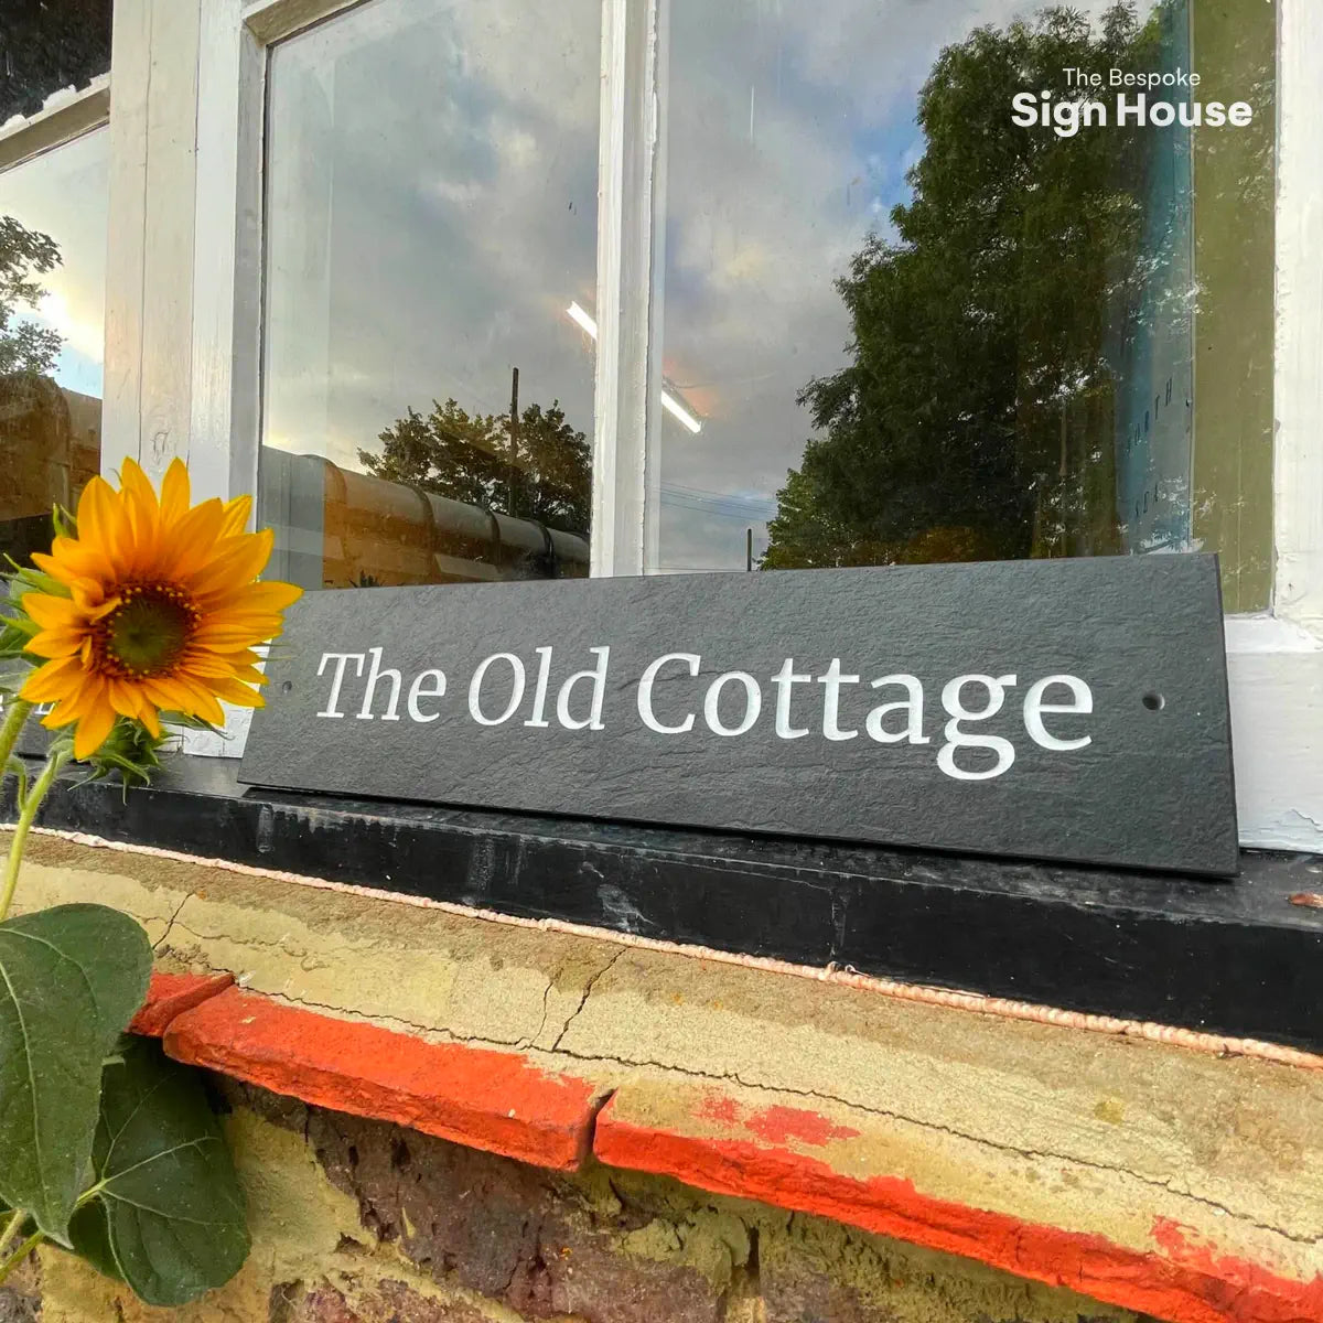
[[[1323,859],[1228,881],[250,790],[173,758],[41,823],[528,918],[1323,1050]],[[0,822],[15,816],[13,782]]]

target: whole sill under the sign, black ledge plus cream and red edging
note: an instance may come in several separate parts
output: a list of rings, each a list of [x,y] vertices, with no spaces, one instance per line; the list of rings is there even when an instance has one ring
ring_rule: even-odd
[[[1195,882],[245,794],[233,771],[176,763],[127,807],[66,783],[20,890],[144,923],[157,974],[135,1028],[180,1060],[1177,1323],[1323,1316],[1319,1057],[659,949],[835,955],[1307,1043],[1323,912],[1287,897],[1318,886],[1316,861],[1252,856],[1236,882]],[[528,922],[552,913],[570,922]]]

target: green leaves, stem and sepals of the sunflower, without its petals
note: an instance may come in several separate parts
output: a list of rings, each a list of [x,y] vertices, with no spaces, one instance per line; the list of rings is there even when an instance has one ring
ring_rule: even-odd
[[[53,525],[57,537],[77,533],[67,511],[57,508]],[[70,595],[30,565],[9,561],[0,573],[0,775],[15,775],[19,808],[0,919],[28,832],[73,758],[71,726],[50,736],[34,781],[12,753],[38,710],[17,697],[41,664],[26,651],[38,632],[22,606],[29,593]],[[127,795],[159,770],[173,730],[210,729],[177,712],[160,721],[161,734],[152,736],[120,716],[87,759],[87,779],[119,775]],[[122,1037],[151,967],[142,926],[101,905],[0,922],[0,1215],[9,1232],[0,1282],[50,1240],[147,1303],[175,1306],[229,1281],[247,1256],[234,1167],[198,1074],[167,1061],[155,1043]]]

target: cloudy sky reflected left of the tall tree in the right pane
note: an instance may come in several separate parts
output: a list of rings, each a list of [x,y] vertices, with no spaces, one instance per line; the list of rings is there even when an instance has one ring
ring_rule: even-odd
[[[795,396],[848,361],[833,280],[923,151],[919,89],[943,46],[1043,8],[671,0],[663,370],[704,426],[663,419],[660,569],[742,569],[749,527],[766,546],[812,431]]]

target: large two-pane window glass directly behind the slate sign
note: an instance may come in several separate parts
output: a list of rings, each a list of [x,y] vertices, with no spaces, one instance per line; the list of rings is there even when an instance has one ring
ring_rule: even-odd
[[[622,181],[650,275],[603,254],[648,329],[636,427],[593,423],[598,7],[552,33],[513,0],[372,0],[271,49],[283,573],[585,573],[595,448],[599,520],[642,475],[648,573],[1203,548],[1229,610],[1267,605],[1271,7],[660,0],[655,46],[624,8],[660,107]],[[1170,75],[1147,101],[1183,114],[1118,123],[1113,70]],[[1019,93],[1084,127],[1017,123]]]

